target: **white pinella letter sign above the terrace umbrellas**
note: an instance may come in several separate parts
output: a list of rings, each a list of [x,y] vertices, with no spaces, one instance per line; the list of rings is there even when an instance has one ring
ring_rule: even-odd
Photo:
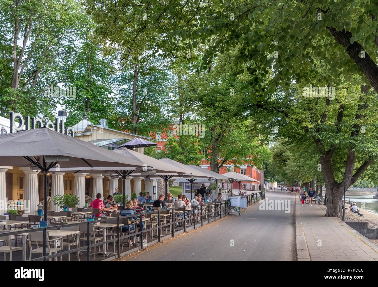
[[[19,122],[15,122],[14,120],[18,119]],[[31,126],[30,126],[31,124]],[[74,129],[73,127],[64,127],[64,122],[63,120],[60,120],[59,118],[55,118],[55,125],[53,124],[52,121],[45,121],[45,123],[42,122],[40,118],[30,118],[29,116],[25,116],[25,121],[24,118],[20,113],[15,113],[11,112],[11,133],[13,132],[13,129],[17,132],[19,130],[23,130],[25,127],[25,130],[29,129],[37,129],[38,127],[47,127],[48,129],[55,130],[56,132],[65,134],[65,135],[70,135],[71,137],[74,137]],[[68,134],[68,132],[71,132],[71,134]]]

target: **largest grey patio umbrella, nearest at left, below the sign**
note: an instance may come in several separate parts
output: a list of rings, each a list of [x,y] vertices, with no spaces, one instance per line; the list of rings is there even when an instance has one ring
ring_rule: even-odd
[[[75,166],[138,166],[140,163],[49,128],[22,130],[0,136],[0,162],[5,166],[31,167],[43,173],[44,220],[47,221],[47,178],[49,170]],[[46,229],[43,229],[46,256]]]

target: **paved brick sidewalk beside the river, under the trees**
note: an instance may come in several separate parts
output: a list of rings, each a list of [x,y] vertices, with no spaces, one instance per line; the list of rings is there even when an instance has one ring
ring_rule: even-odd
[[[306,204],[296,194],[298,261],[378,261],[378,246],[340,218],[325,217],[325,206]]]

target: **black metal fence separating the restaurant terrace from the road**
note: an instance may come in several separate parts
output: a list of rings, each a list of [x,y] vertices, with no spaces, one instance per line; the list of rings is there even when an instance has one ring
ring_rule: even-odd
[[[265,191],[261,191],[259,193],[253,193],[251,195],[247,195],[247,206],[250,206],[254,203],[259,202],[260,200],[265,198]],[[163,232],[166,233],[165,238],[173,237],[178,233],[187,232],[192,229],[196,229],[197,227],[201,227],[205,224],[209,224],[213,221],[219,220],[225,216],[229,215],[229,200],[222,200],[222,201],[213,201],[210,203],[203,203],[198,204],[195,206],[191,206],[190,210],[186,210],[186,207],[180,208],[169,208],[169,209],[161,209],[161,210],[153,210],[151,212],[143,212],[143,213],[136,213],[135,215],[125,215],[119,217],[109,217],[104,219],[99,219],[96,221],[83,221],[80,223],[64,223],[64,224],[52,224],[48,227],[40,227],[35,229],[16,229],[6,233],[0,233],[1,236],[14,236],[15,241],[17,240],[16,237],[21,236],[23,240],[23,246],[25,250],[22,250],[23,254],[26,256],[26,240],[30,240],[30,233],[34,232],[43,232],[43,236],[46,236],[46,239],[49,240],[50,237],[47,236],[49,231],[53,230],[75,230],[78,231],[75,236],[77,236],[76,240],[79,242],[76,248],[69,249],[63,251],[60,250],[54,254],[41,254],[40,257],[29,259],[25,257],[26,261],[44,261],[49,259],[56,260],[57,257],[62,258],[61,256],[65,255],[75,255],[77,252],[85,252],[85,260],[91,261],[95,260],[96,248],[98,246],[102,246],[102,256],[97,256],[97,258],[107,257],[108,259],[115,259],[120,258],[121,256],[134,252],[139,249],[143,249],[146,245],[155,244],[156,242],[160,242],[161,238],[163,237]],[[135,219],[136,218],[136,219]],[[142,230],[141,226],[143,224],[140,223],[140,219],[142,218],[142,222],[144,222],[144,228]],[[106,226],[102,224],[107,224]],[[109,227],[109,224],[112,227]],[[139,225],[139,226],[138,226]],[[126,229],[122,229],[122,227],[127,227]],[[107,230],[111,228],[111,232]],[[77,230],[78,229],[78,230]],[[108,232],[107,232],[108,231]],[[150,242],[148,242],[149,234],[151,236]],[[97,236],[97,237],[96,237]],[[153,240],[153,236],[155,236],[155,240]],[[110,239],[108,239],[110,237]],[[140,237],[140,243],[138,244],[130,244],[129,241],[133,238],[136,241],[136,237]],[[67,237],[68,239],[68,237]],[[63,245],[63,238],[57,238],[54,236],[54,239],[51,239],[51,242],[54,244],[58,244],[56,240],[59,240],[59,245]],[[124,241],[126,241],[124,243]],[[34,241],[33,241],[34,242]],[[42,242],[42,241],[41,241]],[[34,245],[41,242],[35,242]],[[46,241],[49,242],[49,241]],[[81,246],[81,243],[84,246]],[[4,243],[3,243],[4,244]],[[48,243],[50,244],[50,242]],[[110,248],[106,246],[108,244],[112,244],[113,251],[110,252]],[[125,245],[129,245],[129,248],[126,251],[123,251],[123,247]],[[134,246],[135,245],[135,246]],[[38,245],[37,245],[38,248]],[[53,248],[53,247],[51,247]],[[93,256],[91,256],[91,250],[93,250]],[[33,249],[34,250],[34,249]],[[48,249],[47,249],[48,250]],[[121,251],[122,250],[122,251]],[[29,250],[30,252],[31,250]],[[48,252],[48,251],[47,251]],[[114,256],[107,256],[108,253],[114,253]],[[105,256],[104,256],[105,255]],[[82,260],[81,260],[82,261]]]

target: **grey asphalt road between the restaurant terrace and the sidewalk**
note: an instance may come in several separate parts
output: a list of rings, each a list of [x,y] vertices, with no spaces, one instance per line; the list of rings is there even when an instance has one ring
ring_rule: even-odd
[[[290,213],[260,210],[260,204],[256,203],[240,216],[229,215],[116,260],[294,261],[294,196],[285,192],[265,194],[265,200],[290,200],[287,205],[290,205]],[[231,246],[232,240],[234,246]]]

